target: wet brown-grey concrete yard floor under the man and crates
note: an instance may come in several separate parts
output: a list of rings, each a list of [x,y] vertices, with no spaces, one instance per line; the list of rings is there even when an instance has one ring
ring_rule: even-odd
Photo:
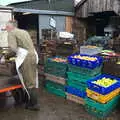
[[[13,98],[8,98],[6,106],[0,108],[0,120],[98,120],[89,115],[83,106],[51,95],[44,89],[41,89],[40,96],[39,112],[25,110],[22,106],[14,107]],[[116,110],[106,120],[119,118],[120,111]]]

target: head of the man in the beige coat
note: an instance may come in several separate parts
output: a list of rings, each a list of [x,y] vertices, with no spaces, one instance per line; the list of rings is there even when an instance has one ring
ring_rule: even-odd
[[[6,30],[7,31],[12,31],[18,26],[18,23],[16,20],[10,20],[6,24]]]

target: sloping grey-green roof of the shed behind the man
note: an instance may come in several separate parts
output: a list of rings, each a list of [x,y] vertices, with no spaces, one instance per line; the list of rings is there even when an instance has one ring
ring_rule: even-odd
[[[53,10],[74,12],[73,0],[32,0],[28,2],[13,3],[10,6],[23,9]]]

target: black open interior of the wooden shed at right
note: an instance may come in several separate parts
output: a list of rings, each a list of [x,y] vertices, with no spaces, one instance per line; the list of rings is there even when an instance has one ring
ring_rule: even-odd
[[[118,27],[120,24],[119,16],[113,11],[90,13],[90,16],[87,18],[87,23],[89,27],[94,27],[95,33],[93,33],[96,36],[104,36],[104,28],[106,26],[113,25],[115,27]]]

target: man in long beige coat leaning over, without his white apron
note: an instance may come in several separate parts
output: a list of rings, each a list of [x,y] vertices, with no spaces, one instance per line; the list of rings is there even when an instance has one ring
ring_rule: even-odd
[[[8,46],[17,53],[19,48],[27,50],[28,54],[20,67],[23,76],[22,84],[24,84],[28,93],[28,101],[26,108],[31,110],[39,110],[38,91],[36,88],[36,54],[33,42],[27,31],[17,28],[17,21],[9,21],[6,24],[8,32]]]

